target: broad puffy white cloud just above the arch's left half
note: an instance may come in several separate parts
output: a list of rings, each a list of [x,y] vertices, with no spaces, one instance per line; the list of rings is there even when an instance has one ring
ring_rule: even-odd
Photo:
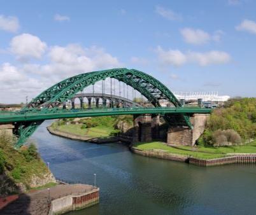
[[[103,48],[92,46],[83,48],[77,44],[52,46],[48,52],[48,64],[26,64],[27,73],[51,78],[55,82],[75,74],[87,73],[99,69],[120,67],[117,57],[105,52]]]

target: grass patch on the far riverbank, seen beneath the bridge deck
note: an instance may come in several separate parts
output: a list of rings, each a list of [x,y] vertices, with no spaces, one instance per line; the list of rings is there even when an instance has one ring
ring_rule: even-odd
[[[81,128],[82,125],[60,125],[58,130],[72,134],[86,135],[89,137],[108,137],[115,129],[113,127],[97,126],[93,128]]]

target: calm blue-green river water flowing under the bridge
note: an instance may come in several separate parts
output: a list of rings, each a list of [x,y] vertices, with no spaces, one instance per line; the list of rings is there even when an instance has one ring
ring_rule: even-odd
[[[100,203],[69,214],[256,214],[256,165],[196,167],[135,155],[124,144],[32,135],[55,177],[94,183]]]

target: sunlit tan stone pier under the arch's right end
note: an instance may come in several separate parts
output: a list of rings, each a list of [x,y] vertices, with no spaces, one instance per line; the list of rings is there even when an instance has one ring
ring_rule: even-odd
[[[197,139],[204,132],[207,118],[210,114],[194,114],[190,117],[193,129],[188,127],[169,127],[167,131],[167,143],[194,146]]]

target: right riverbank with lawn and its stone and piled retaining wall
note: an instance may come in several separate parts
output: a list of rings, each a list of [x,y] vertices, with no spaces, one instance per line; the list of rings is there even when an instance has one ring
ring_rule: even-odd
[[[210,167],[230,163],[256,163],[255,146],[256,142],[252,142],[248,146],[218,148],[169,146],[164,142],[139,142],[131,147],[131,151],[143,156]]]

